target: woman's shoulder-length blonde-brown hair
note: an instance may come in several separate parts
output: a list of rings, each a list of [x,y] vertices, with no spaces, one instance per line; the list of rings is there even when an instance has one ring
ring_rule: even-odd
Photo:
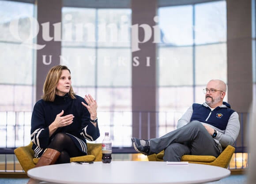
[[[45,79],[44,88],[43,88],[42,99],[44,101],[54,101],[55,94],[56,94],[56,86],[59,82],[59,79],[60,79],[60,76],[61,76],[63,70],[68,70],[69,73],[71,73],[70,70],[68,69],[68,67],[63,66],[63,65],[54,66],[48,72],[46,79]],[[75,99],[75,93],[73,91],[72,86],[70,86],[70,90],[69,90],[68,94],[72,99]]]

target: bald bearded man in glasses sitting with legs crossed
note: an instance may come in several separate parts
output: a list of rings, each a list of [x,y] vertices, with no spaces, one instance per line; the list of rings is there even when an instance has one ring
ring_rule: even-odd
[[[226,84],[212,79],[203,89],[205,103],[193,104],[177,123],[177,129],[154,139],[132,138],[135,150],[145,155],[164,152],[164,161],[181,161],[184,154],[218,157],[233,145],[240,130],[238,114],[223,102]]]

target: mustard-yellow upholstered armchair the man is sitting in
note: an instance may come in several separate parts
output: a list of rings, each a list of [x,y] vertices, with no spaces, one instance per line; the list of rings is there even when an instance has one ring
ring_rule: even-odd
[[[223,168],[228,168],[234,152],[235,148],[233,146],[228,145],[217,158],[208,155],[183,155],[181,161],[188,161],[189,163],[195,164],[215,165]],[[162,150],[158,154],[148,155],[147,158],[149,161],[163,161],[163,156],[164,150]]]

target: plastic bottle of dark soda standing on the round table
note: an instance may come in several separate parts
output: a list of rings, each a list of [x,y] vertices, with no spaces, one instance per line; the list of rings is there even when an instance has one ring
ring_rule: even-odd
[[[112,160],[111,154],[112,154],[111,139],[109,138],[109,132],[105,132],[105,137],[102,141],[102,162],[110,163]]]

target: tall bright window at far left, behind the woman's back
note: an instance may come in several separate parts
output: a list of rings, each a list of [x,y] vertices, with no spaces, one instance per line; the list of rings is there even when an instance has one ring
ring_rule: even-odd
[[[0,0],[0,147],[30,141],[33,17],[34,4]]]

